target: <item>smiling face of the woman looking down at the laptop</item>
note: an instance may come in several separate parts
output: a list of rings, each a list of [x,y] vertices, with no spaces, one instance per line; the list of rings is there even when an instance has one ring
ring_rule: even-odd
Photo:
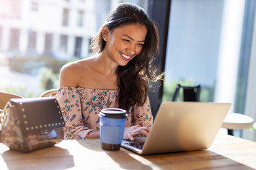
[[[139,23],[124,25],[107,33],[107,50],[110,59],[124,66],[142,52],[146,26]]]

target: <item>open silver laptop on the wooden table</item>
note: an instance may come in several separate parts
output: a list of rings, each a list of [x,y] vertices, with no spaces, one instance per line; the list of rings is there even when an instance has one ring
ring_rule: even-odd
[[[122,140],[137,154],[162,154],[207,149],[230,109],[230,103],[163,102],[147,137]]]

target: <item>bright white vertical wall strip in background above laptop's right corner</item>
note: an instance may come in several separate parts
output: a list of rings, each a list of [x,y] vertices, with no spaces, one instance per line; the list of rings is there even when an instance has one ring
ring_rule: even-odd
[[[226,0],[223,8],[215,102],[232,103],[230,111],[235,104],[244,8],[245,0]]]

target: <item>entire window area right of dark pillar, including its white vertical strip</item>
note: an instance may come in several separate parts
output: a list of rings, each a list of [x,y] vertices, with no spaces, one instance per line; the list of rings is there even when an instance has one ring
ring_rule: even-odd
[[[252,1],[171,1],[163,100],[201,84],[201,101],[243,114],[254,13]]]

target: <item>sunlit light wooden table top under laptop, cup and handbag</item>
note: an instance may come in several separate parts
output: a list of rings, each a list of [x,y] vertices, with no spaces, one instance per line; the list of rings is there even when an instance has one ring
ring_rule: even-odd
[[[209,149],[139,156],[102,150],[100,140],[63,140],[24,154],[0,144],[0,169],[256,169],[256,142],[218,134]]]

